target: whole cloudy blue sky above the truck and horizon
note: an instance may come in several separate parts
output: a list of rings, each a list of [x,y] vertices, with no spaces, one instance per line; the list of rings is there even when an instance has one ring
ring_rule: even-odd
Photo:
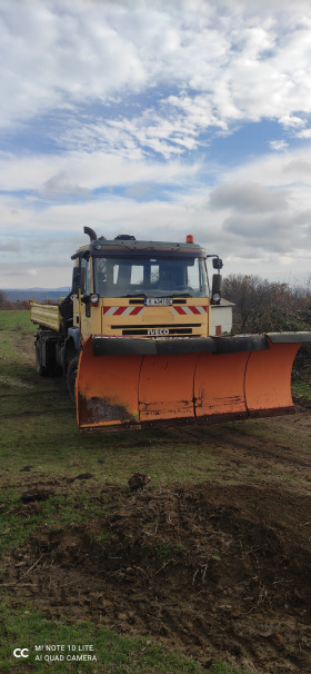
[[[311,277],[310,0],[0,0],[0,288],[83,227]]]

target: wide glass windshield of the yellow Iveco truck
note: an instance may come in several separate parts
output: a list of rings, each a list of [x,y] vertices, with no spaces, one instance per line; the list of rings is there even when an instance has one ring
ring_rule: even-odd
[[[94,258],[94,293],[100,297],[207,297],[202,258]]]

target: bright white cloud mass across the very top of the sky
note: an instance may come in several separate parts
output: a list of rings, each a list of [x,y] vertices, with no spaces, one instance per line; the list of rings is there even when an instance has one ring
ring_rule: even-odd
[[[311,112],[308,2],[283,10],[275,2],[1,0],[0,11],[3,127],[159,86],[175,88],[192,136],[263,117],[294,130],[303,123],[297,111]],[[199,97],[192,106],[185,91]],[[154,131],[159,140],[159,123]]]

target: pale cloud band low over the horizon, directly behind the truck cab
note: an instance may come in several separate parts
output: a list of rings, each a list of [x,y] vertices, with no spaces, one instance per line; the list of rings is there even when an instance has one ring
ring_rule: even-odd
[[[142,239],[184,240],[187,234],[193,234],[209,252],[223,257],[224,274],[251,272],[269,278],[279,274],[284,280],[283,268],[297,277],[307,277],[310,269],[310,194],[309,186],[293,191],[238,184],[232,171],[231,179],[211,190],[210,198],[205,189],[193,188],[187,194],[179,190],[171,201],[107,197],[79,205],[51,204],[43,212],[31,205],[13,209],[8,204],[6,214],[19,210],[11,215],[21,244],[19,271],[37,269],[39,286],[54,286],[56,270],[57,285],[70,284],[70,256],[88,240],[84,225],[108,238],[128,232]],[[2,221],[6,214],[0,210]],[[2,255],[2,287],[19,285],[13,276],[16,257],[13,250]],[[289,258],[293,260],[291,266],[282,261]],[[23,283],[28,287],[27,276]]]

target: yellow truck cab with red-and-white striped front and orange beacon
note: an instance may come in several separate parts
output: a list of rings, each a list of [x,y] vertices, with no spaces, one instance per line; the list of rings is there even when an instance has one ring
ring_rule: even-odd
[[[90,334],[207,337],[211,323],[207,254],[192,237],[188,239],[107,240],[93,232],[90,245],[72,256],[73,327],[81,339]]]

